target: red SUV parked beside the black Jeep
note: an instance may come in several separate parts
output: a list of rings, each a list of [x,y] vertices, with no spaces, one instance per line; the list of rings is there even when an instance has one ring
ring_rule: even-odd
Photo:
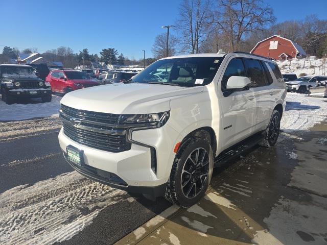
[[[68,93],[76,89],[100,85],[99,82],[92,80],[82,71],[65,69],[50,71],[45,81],[50,82],[51,90],[58,93]]]

